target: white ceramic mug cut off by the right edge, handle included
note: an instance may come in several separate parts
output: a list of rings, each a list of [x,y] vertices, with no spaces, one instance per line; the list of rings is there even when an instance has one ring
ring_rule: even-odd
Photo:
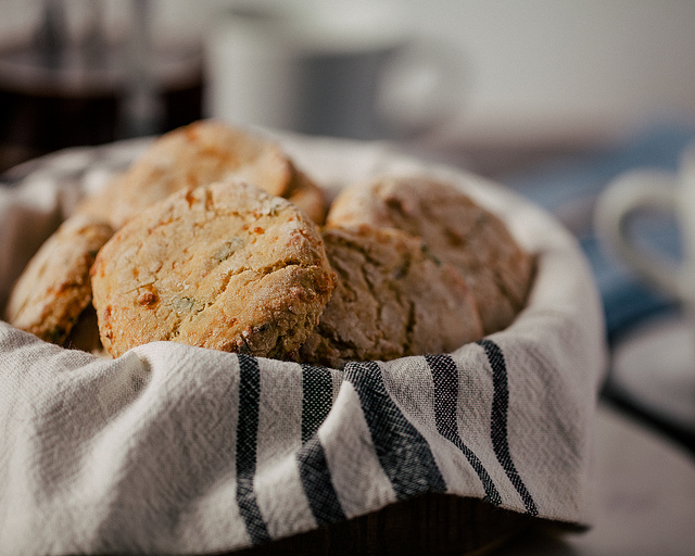
[[[675,218],[680,258],[646,248],[630,235],[629,220],[641,211]],[[594,214],[598,239],[695,315],[695,144],[683,152],[678,173],[639,169],[619,176],[598,198]]]

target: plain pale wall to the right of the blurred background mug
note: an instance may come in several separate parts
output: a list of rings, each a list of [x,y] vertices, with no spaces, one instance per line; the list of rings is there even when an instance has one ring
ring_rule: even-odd
[[[402,1],[470,61],[466,136],[571,139],[695,116],[693,1]]]

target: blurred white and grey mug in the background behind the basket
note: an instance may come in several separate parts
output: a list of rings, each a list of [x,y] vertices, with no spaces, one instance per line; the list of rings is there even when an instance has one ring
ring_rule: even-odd
[[[460,110],[464,58],[416,40],[388,2],[249,5],[205,37],[205,115],[354,139],[403,138]]]

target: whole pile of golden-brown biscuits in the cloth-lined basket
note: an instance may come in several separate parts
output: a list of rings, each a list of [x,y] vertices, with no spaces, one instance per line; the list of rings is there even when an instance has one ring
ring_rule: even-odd
[[[342,368],[508,327],[533,266],[452,185],[377,176],[329,203],[275,141],[202,121],[81,202],[29,261],[7,320],[110,357],[174,341]]]

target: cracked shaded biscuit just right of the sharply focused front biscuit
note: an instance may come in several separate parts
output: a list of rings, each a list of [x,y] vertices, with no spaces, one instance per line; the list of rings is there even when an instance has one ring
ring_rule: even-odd
[[[460,273],[397,229],[324,230],[338,285],[300,361],[342,368],[348,361],[442,353],[482,338],[476,301]]]

